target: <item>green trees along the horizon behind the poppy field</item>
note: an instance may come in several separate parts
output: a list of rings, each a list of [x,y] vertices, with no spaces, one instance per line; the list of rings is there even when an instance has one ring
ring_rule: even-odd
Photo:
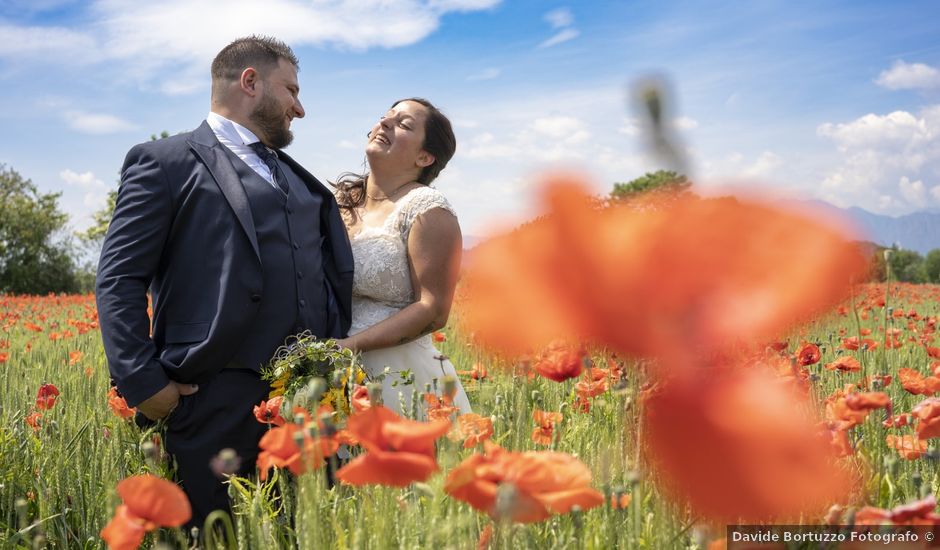
[[[151,139],[167,137],[163,132]],[[625,201],[651,191],[691,193],[682,174],[660,170],[627,183],[615,183],[606,200]],[[98,253],[111,221],[117,190],[81,232],[68,230],[68,215],[59,209],[61,193],[42,193],[16,170],[0,164],[0,293],[48,294],[90,292]],[[871,258],[869,278],[912,283],[940,283],[940,249],[926,256],[898,247],[859,243]],[[83,258],[85,260],[83,261]],[[87,258],[92,258],[88,260]]]

